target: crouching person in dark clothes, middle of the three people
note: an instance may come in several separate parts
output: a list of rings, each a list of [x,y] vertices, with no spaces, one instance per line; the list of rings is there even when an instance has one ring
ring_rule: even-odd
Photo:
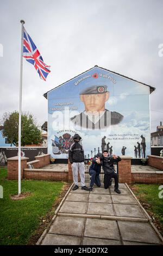
[[[93,189],[94,183],[100,187],[101,186],[101,181],[99,179],[99,174],[101,172],[101,166],[102,166],[102,153],[98,153],[93,159],[92,159],[92,164],[89,169],[89,174],[91,176],[91,181],[90,181],[90,190]]]

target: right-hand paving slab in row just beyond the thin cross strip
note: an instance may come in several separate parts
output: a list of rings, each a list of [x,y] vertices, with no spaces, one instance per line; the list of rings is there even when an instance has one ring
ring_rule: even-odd
[[[114,204],[116,216],[147,218],[138,205]]]

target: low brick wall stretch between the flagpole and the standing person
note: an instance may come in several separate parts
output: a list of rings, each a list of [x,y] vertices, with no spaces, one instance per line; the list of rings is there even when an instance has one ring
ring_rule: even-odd
[[[48,172],[47,170],[34,169],[24,170],[24,179],[68,181],[68,172]]]

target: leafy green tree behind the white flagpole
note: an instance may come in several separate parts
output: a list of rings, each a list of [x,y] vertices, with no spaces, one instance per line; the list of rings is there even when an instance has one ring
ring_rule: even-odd
[[[7,137],[12,144],[18,144],[18,112],[4,113],[3,115],[3,136]],[[42,142],[41,131],[39,130],[33,114],[22,113],[21,116],[21,145],[39,144]]]

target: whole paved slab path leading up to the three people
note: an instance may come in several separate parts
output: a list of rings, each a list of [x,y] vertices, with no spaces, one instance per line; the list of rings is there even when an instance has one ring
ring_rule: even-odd
[[[162,237],[126,184],[67,192],[37,245],[161,245]]]

